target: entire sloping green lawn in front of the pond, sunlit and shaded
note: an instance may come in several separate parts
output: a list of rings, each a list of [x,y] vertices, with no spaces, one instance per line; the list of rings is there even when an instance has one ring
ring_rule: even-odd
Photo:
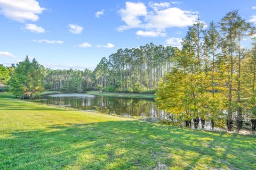
[[[255,143],[0,93],[0,169],[256,169]]]

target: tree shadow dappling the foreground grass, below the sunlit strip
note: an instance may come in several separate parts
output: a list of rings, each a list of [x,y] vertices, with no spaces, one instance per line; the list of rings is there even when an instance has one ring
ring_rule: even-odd
[[[153,169],[158,162],[173,169],[253,169],[256,158],[237,152],[255,153],[255,142],[139,121],[60,124],[0,138],[0,169]]]

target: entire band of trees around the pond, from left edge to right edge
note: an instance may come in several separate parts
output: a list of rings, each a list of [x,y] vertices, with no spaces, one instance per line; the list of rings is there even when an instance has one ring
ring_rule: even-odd
[[[208,26],[199,18],[188,28],[181,47],[156,46],[118,49],[103,57],[93,70],[45,69],[28,57],[16,66],[0,65],[0,81],[20,98],[33,98],[44,89],[62,92],[100,90],[108,92],[155,93],[159,108],[169,121],[200,120],[211,125],[235,124],[242,129],[251,121],[256,128],[256,42],[255,28],[228,12],[219,23]],[[252,48],[242,46],[252,39]]]

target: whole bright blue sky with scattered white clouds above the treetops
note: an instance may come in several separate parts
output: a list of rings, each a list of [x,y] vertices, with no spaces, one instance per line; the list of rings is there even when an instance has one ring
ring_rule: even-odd
[[[26,55],[52,69],[94,69],[118,48],[179,46],[197,15],[206,24],[239,9],[256,23],[256,1],[0,0],[0,64]],[[244,40],[244,46],[250,40]]]

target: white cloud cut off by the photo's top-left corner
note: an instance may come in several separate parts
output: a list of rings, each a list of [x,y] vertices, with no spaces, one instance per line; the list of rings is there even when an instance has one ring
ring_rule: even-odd
[[[35,0],[0,0],[0,7],[0,13],[19,22],[37,21],[38,14],[45,10]]]

